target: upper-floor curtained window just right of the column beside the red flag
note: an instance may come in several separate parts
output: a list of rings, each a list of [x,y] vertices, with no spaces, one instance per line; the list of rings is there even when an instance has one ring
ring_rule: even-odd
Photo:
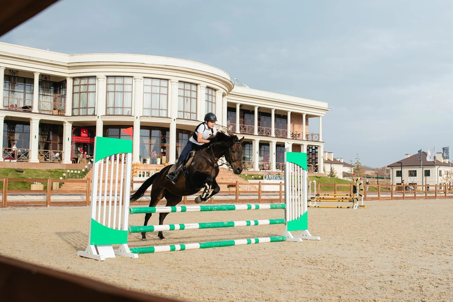
[[[143,115],[167,116],[168,86],[168,80],[144,79]]]

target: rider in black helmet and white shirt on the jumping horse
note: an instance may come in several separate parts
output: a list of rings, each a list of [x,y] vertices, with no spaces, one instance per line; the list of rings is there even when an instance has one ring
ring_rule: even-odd
[[[175,184],[178,181],[179,173],[181,172],[181,167],[183,166],[183,161],[186,158],[187,154],[193,150],[198,150],[202,144],[209,143],[209,138],[211,135],[216,135],[217,129],[214,127],[217,122],[217,116],[212,112],[207,113],[204,116],[204,122],[195,128],[195,132],[187,141],[187,145],[184,147],[181,154],[178,157],[178,163],[176,164],[176,169],[174,172],[167,174],[167,178]]]

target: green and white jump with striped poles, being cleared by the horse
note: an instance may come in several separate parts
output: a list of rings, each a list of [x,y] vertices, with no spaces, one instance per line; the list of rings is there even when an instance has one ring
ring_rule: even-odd
[[[157,252],[168,252],[178,251],[186,249],[206,249],[212,247],[232,246],[232,245],[243,245],[243,244],[257,244],[266,242],[277,242],[277,241],[297,241],[301,242],[302,239],[320,240],[318,236],[312,236],[308,231],[308,218],[307,218],[307,154],[306,153],[293,153],[286,152],[286,170],[285,170],[285,203],[274,203],[274,204],[242,204],[242,205],[206,205],[206,206],[155,206],[155,207],[129,207],[130,197],[130,153],[132,151],[132,144],[130,149],[115,149],[113,144],[109,144],[109,152],[102,153],[99,151],[101,146],[105,146],[105,138],[96,138],[95,143],[95,158],[96,163],[93,170],[93,190],[92,190],[92,218],[90,223],[90,236],[89,244],[85,251],[79,251],[77,255],[88,257],[97,260],[104,260],[105,258],[115,257],[115,255],[123,255],[130,258],[137,258],[138,254],[144,253],[157,253]],[[118,139],[116,139],[118,140]],[[131,142],[131,141],[127,141]],[[105,147],[103,147],[105,148]],[[97,151],[97,152],[96,152]],[[116,173],[116,185],[115,192],[112,197],[113,186],[113,173],[110,174],[110,191],[107,194],[107,182],[108,178],[108,159],[113,159],[112,154],[126,153],[126,175],[124,179],[124,197],[121,194],[117,196],[117,180],[118,173]],[[96,154],[102,154],[96,156]],[[118,156],[116,158],[119,158]],[[101,217],[101,205],[102,205],[102,173],[104,167],[104,160],[106,159],[106,175],[104,177],[104,206],[103,216]],[[121,160],[122,167],[124,166],[124,159]],[[118,162],[116,162],[116,171],[118,171]],[[95,179],[98,171],[101,171],[100,179]],[[111,164],[111,171],[113,171],[113,160]],[[121,171],[123,171],[121,169]],[[122,177],[121,172],[121,184],[122,189]],[[99,185],[98,185],[99,181]],[[99,192],[98,192],[99,187]],[[99,198],[98,198],[98,195]],[[116,203],[118,197],[118,204]],[[99,201],[98,201],[99,200]],[[108,208],[109,214],[106,216],[106,201],[109,201]],[[111,201],[114,201],[113,204]],[[98,201],[98,202],[97,202]],[[96,203],[98,204],[96,206]],[[113,212],[112,212],[113,205]],[[116,210],[118,208],[118,211]],[[184,223],[184,224],[171,224],[171,225],[140,225],[140,226],[129,226],[129,216],[132,214],[144,214],[144,213],[176,213],[176,212],[208,212],[208,211],[239,211],[239,210],[275,210],[284,209],[285,218],[280,219],[269,219],[269,220],[249,220],[249,221],[223,221],[223,222],[204,222],[204,223]],[[97,210],[97,211],[96,211]],[[116,212],[121,213],[122,223],[119,220],[116,225]],[[97,214],[97,215],[96,215]],[[113,225],[110,226],[113,215]],[[106,220],[106,217],[108,219]],[[120,216],[118,216],[120,217]],[[101,220],[102,218],[102,220]],[[120,218],[119,218],[120,219]],[[106,222],[107,221],[107,222]],[[285,230],[282,236],[274,237],[263,237],[263,238],[249,238],[249,239],[238,239],[238,240],[224,240],[224,241],[212,241],[212,242],[201,242],[201,243],[190,243],[190,244],[174,244],[174,245],[161,245],[161,246],[150,246],[150,247],[138,247],[129,248],[127,245],[127,234],[128,233],[140,233],[140,232],[158,232],[158,231],[172,231],[172,230],[195,230],[195,229],[210,229],[210,228],[225,228],[225,227],[237,227],[237,226],[255,226],[255,225],[277,225],[284,224]],[[300,231],[300,234],[293,235],[291,232]],[[113,250],[112,244],[120,244],[117,250]]]

